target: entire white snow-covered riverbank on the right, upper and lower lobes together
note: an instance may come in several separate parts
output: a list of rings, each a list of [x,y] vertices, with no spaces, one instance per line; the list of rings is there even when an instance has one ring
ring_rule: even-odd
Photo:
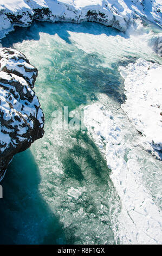
[[[134,150],[143,148],[154,155],[156,150],[157,157],[161,157],[162,66],[138,59],[135,64],[120,66],[119,70],[125,79],[127,96],[121,108],[130,122],[121,110],[113,114],[94,104],[85,107],[85,125],[106,155],[111,179],[121,199],[120,241],[161,244],[162,215],[142,181],[141,164]],[[129,138],[132,124],[142,136],[134,133]]]

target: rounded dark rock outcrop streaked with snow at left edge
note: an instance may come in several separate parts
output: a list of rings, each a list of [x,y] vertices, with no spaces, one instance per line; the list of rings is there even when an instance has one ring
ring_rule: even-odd
[[[12,157],[44,135],[44,115],[31,89],[36,77],[22,53],[0,48],[0,181]]]

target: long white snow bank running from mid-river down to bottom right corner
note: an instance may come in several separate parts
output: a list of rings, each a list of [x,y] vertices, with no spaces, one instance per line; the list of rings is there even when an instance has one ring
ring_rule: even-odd
[[[140,165],[127,143],[129,127],[121,113],[100,105],[85,107],[85,125],[112,170],[111,179],[121,200],[119,230],[121,244],[161,244],[162,215],[141,180]],[[129,122],[128,122],[129,123]],[[131,124],[131,123],[130,123]],[[130,142],[129,142],[130,143]]]

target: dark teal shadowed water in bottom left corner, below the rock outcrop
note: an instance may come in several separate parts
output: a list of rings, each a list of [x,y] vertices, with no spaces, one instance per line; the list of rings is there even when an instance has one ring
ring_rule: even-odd
[[[62,224],[38,191],[39,183],[30,149],[17,154],[1,182],[0,244],[66,243]]]

